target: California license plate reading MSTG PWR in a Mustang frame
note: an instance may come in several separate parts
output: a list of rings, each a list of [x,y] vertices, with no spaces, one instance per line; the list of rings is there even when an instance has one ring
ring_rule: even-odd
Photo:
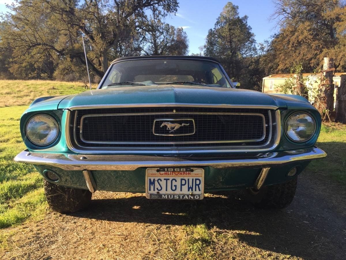
[[[147,168],[147,199],[201,200],[204,196],[204,170],[190,167]]]

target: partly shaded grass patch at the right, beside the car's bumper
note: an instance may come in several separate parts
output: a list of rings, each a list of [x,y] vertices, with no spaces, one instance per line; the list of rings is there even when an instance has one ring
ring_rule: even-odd
[[[330,179],[346,184],[346,125],[322,125],[316,145],[328,156],[313,160],[307,171],[328,175]]]

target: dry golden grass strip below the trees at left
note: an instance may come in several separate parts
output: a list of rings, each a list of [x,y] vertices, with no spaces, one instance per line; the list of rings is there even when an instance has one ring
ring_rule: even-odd
[[[0,107],[29,105],[38,97],[77,94],[85,90],[81,82],[51,80],[0,80]],[[97,85],[93,85],[96,88]]]

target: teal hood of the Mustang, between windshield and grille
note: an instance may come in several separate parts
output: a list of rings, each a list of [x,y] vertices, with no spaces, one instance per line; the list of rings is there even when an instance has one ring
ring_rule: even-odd
[[[293,95],[268,95],[246,89],[204,86],[130,86],[95,89],[64,98],[59,109],[73,106],[117,104],[217,104],[266,105],[286,108],[288,103],[311,106],[306,99]]]

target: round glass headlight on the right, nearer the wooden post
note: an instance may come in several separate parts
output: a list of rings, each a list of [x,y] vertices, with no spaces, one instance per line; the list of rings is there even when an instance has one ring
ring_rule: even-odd
[[[308,113],[297,112],[286,120],[285,131],[292,141],[305,142],[315,133],[316,122]]]

